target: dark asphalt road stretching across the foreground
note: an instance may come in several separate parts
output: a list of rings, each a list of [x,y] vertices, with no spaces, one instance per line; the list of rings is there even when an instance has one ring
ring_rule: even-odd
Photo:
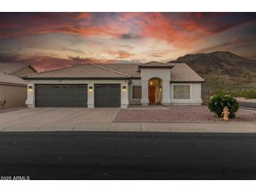
[[[256,134],[1,132],[0,176],[256,179]]]

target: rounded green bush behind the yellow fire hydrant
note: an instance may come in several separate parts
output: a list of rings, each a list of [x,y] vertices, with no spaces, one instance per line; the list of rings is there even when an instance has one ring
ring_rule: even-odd
[[[229,108],[229,118],[235,118],[239,104],[234,97],[231,97],[230,95],[216,94],[213,95],[208,102],[208,108],[210,111],[214,112],[217,117],[222,116],[222,111],[226,106]]]

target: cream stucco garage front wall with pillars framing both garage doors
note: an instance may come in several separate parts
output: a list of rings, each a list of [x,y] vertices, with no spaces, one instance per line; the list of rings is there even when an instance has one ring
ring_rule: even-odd
[[[35,85],[36,84],[87,84],[88,88],[88,108],[94,107],[94,84],[121,84],[121,108],[128,107],[129,100],[128,100],[128,92],[129,92],[129,86],[128,80],[95,80],[95,81],[82,81],[82,80],[49,80],[49,81],[43,81],[43,80],[34,80],[34,81],[27,81],[27,100],[26,104],[27,107],[35,107]],[[32,86],[32,89],[29,89],[29,86]],[[90,86],[93,87],[92,90],[90,90]],[[123,89],[123,86],[126,87],[126,89]]]

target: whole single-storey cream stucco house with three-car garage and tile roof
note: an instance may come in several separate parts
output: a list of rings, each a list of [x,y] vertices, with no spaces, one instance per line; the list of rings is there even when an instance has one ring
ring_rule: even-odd
[[[201,83],[187,64],[80,64],[22,76],[28,107],[201,104]]]

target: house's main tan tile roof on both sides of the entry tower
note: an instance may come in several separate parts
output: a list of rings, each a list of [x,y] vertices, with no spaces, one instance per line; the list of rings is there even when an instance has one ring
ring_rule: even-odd
[[[80,64],[74,67],[30,74],[23,76],[23,78],[140,78],[140,72],[137,71],[139,65],[140,64]],[[170,81],[204,81],[201,76],[196,74],[196,72],[185,63],[172,63],[170,66],[173,67],[170,70]]]

